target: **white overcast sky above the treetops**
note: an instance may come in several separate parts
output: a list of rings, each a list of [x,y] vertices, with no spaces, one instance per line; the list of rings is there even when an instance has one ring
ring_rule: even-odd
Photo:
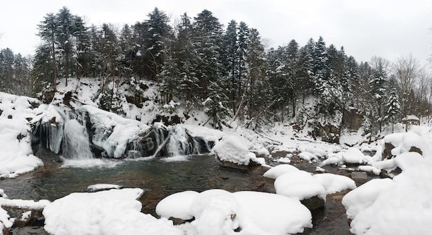
[[[357,62],[372,56],[393,61],[409,53],[422,65],[432,54],[432,1],[426,0],[14,0],[0,7],[0,48],[33,54],[37,25],[46,14],[66,6],[88,25],[113,23],[121,28],[148,19],[155,7],[172,18],[195,17],[207,9],[227,25],[234,19],[256,28],[271,46],[295,39],[300,46],[322,36],[326,45],[344,46]]]

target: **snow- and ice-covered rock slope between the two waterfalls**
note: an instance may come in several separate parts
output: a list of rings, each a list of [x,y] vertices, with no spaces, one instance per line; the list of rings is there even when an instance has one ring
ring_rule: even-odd
[[[77,110],[88,112],[95,127],[92,143],[104,149],[110,157],[120,158],[128,143],[150,128],[139,121],[125,119],[90,105],[82,105]]]

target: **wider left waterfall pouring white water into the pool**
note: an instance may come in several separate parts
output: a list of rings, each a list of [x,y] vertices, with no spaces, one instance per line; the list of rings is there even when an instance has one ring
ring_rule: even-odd
[[[76,119],[68,119],[63,128],[63,157],[73,160],[92,159],[85,123],[81,125]]]

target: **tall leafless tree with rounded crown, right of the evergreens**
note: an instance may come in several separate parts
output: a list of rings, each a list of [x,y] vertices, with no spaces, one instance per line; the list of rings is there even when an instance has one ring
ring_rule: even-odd
[[[412,54],[399,57],[393,63],[393,72],[400,86],[402,97],[400,103],[404,116],[408,114],[409,106],[413,105],[408,102],[408,98],[411,90],[413,90],[415,80],[418,79],[420,69],[421,67],[418,60],[415,59]]]

